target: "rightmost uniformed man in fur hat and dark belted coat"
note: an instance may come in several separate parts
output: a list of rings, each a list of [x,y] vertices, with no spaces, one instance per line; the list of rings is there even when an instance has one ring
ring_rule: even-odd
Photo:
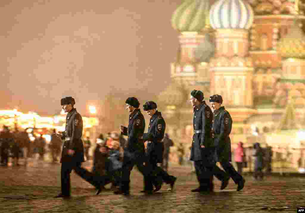
[[[231,140],[230,133],[232,129],[232,118],[230,113],[221,106],[223,100],[221,95],[210,96],[210,103],[213,109],[213,127],[212,137],[216,146],[218,161],[224,171],[238,184],[237,191],[244,187],[245,179],[231,165]],[[214,175],[220,179],[217,174]]]

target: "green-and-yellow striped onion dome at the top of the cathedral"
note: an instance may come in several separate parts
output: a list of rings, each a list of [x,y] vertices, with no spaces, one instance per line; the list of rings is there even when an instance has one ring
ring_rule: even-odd
[[[209,24],[209,1],[186,0],[175,10],[171,23],[180,32],[199,32]]]

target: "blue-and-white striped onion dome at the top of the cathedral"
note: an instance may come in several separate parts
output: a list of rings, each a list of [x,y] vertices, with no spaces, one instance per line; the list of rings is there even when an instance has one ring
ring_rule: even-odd
[[[210,9],[210,24],[214,29],[249,29],[254,13],[243,0],[219,0]]]

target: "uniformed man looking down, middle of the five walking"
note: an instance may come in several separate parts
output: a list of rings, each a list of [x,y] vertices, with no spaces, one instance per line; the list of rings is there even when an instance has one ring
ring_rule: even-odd
[[[169,190],[172,190],[176,181],[175,176],[169,175],[157,163],[163,163],[163,137],[165,133],[165,121],[161,115],[161,112],[157,110],[157,104],[153,101],[148,101],[143,105],[144,111],[151,116],[149,120],[148,132],[143,134],[143,140],[147,141],[146,147],[146,160],[147,167],[152,174],[156,176],[152,177],[152,183],[156,189],[154,192],[161,189],[162,179],[165,183],[170,184]],[[160,177],[162,179],[160,179]]]

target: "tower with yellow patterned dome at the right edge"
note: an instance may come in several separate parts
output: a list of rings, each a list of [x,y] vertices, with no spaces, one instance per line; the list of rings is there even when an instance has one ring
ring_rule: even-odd
[[[290,102],[296,108],[296,121],[301,127],[305,113],[305,35],[298,23],[280,39],[278,53],[282,56],[282,76],[278,79],[273,101],[286,108]]]

